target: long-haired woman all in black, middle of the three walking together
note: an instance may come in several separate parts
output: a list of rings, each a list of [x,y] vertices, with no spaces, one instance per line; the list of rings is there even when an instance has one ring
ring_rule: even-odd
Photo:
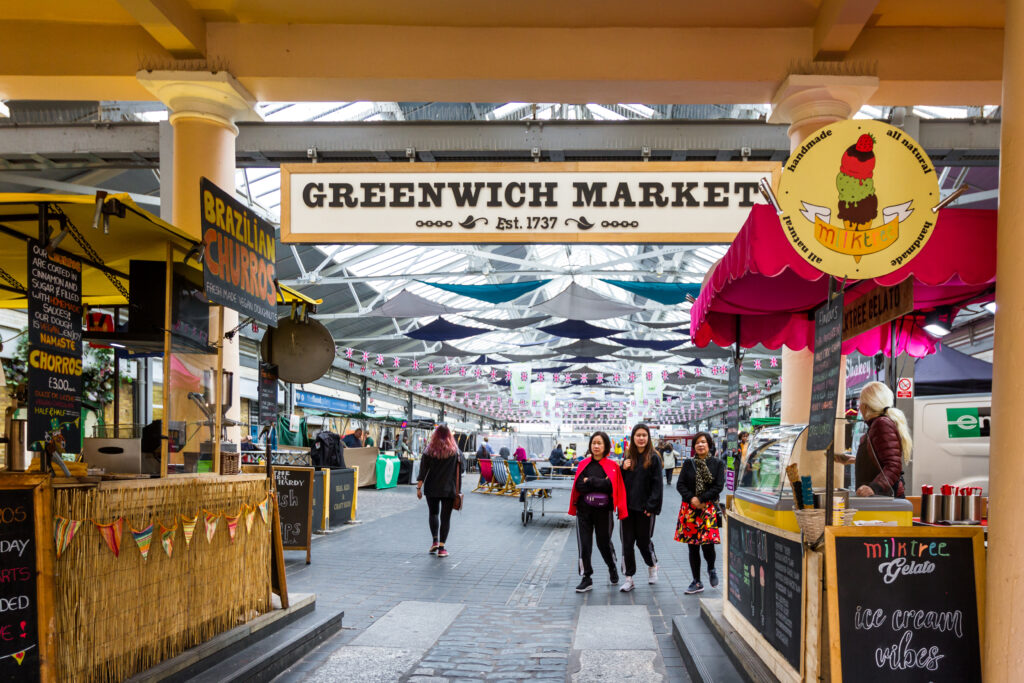
[[[662,512],[662,458],[654,452],[650,430],[640,423],[633,427],[630,447],[623,459],[623,484],[626,486],[626,509],[629,516],[618,525],[623,543],[623,572],[626,581],[620,588],[624,593],[633,590],[633,575],[637,572],[634,546],[647,565],[647,583],[657,583],[657,555],[654,554],[654,520]]]

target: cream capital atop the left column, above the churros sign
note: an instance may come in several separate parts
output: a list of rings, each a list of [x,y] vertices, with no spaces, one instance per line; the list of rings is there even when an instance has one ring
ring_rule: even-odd
[[[135,77],[171,111],[173,124],[182,118],[205,119],[238,134],[237,121],[259,121],[256,98],[225,71],[140,71]]]

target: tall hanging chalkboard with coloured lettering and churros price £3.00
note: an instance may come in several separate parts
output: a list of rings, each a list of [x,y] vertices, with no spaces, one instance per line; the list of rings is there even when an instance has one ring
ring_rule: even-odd
[[[29,243],[29,450],[54,434],[65,453],[82,438],[82,262]]]

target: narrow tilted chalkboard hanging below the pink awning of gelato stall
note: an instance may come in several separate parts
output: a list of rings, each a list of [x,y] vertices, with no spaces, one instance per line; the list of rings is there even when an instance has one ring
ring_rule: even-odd
[[[839,364],[843,353],[843,297],[814,311],[814,370],[811,378],[811,418],[807,450],[823,451],[836,430]]]

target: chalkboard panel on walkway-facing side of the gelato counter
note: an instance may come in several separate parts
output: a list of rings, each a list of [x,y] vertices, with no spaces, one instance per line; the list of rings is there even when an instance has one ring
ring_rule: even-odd
[[[729,602],[800,671],[803,547],[732,516],[727,523]]]

